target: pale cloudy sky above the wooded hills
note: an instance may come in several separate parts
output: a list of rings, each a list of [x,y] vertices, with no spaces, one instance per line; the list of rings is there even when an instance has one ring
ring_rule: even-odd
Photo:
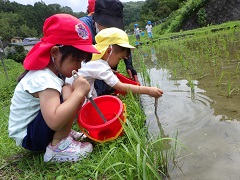
[[[10,0],[10,2],[17,2],[19,4],[34,5],[35,2],[40,2],[41,0]],[[42,0],[45,4],[60,4],[61,6],[70,7],[73,12],[86,12],[88,0]],[[129,1],[143,1],[143,0],[120,0],[121,2]]]

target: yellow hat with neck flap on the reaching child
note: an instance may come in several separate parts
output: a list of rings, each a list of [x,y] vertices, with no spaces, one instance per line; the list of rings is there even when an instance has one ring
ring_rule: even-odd
[[[96,45],[94,47],[100,54],[93,54],[92,60],[101,59],[109,45],[117,44],[119,46],[134,49],[134,46],[129,44],[128,35],[121,29],[111,27],[101,30],[96,36]]]

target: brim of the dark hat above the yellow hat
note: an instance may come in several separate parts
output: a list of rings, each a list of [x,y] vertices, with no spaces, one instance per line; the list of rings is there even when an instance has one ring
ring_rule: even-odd
[[[110,16],[106,14],[99,14],[99,13],[94,13],[93,15],[94,21],[96,21],[98,24],[104,26],[104,27],[116,27],[119,29],[124,29],[123,25],[123,18],[119,18],[116,16]]]

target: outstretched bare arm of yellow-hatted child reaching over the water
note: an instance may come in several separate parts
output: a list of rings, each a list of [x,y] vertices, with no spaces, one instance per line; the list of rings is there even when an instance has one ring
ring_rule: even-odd
[[[120,81],[115,86],[113,86],[113,88],[120,92],[132,91],[134,94],[148,94],[149,96],[155,98],[158,98],[163,94],[163,91],[156,87],[137,86],[133,84],[122,83]]]

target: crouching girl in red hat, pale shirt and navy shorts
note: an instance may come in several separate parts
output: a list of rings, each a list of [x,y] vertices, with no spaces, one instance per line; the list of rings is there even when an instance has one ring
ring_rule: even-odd
[[[64,86],[64,77],[89,61],[92,37],[85,24],[68,14],[47,18],[43,38],[25,58],[26,69],[12,97],[9,136],[30,151],[45,151],[44,161],[77,161],[93,149],[89,142],[75,141],[80,133],[71,130],[74,117],[90,90],[79,77]]]

